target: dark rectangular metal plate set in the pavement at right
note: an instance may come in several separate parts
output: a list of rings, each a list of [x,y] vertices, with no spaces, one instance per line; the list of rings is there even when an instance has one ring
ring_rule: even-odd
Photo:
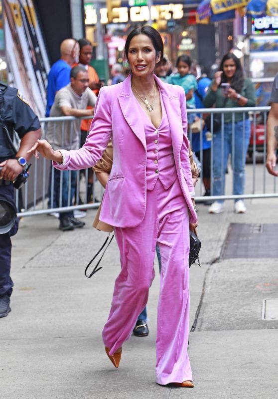
[[[221,258],[277,258],[277,232],[277,224],[231,223]]]

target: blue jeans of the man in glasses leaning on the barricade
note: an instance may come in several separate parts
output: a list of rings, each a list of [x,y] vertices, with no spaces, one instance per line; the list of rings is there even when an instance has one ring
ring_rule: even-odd
[[[62,175],[62,178],[61,178]],[[58,171],[54,169],[54,206],[71,206],[76,192],[77,171]],[[60,181],[62,179],[62,198],[60,202]],[[73,217],[73,211],[60,213],[60,219],[63,216]]]

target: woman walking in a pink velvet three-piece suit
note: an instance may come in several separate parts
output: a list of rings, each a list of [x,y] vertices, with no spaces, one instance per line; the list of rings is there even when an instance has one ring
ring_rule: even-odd
[[[90,134],[76,151],[54,151],[45,140],[32,149],[59,170],[94,166],[112,136],[113,167],[100,220],[115,226],[121,272],[103,330],[108,357],[119,366],[122,345],[147,303],[159,245],[162,268],[157,310],[156,382],[194,387],[187,355],[189,225],[195,228],[188,157],[186,99],[179,86],[153,74],[163,56],[159,33],[135,28],[125,53],[131,75],[100,89]],[[169,320],[171,322],[169,323]]]

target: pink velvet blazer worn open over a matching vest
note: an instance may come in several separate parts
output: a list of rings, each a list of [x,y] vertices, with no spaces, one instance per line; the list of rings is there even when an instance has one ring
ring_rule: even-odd
[[[194,187],[188,157],[184,90],[154,78],[169,120],[178,181],[189,208],[190,221],[196,222],[197,215],[189,195]],[[135,227],[145,214],[146,142],[136,101],[131,89],[131,76],[122,83],[101,88],[86,143],[79,150],[63,150],[65,165],[53,162],[59,170],[92,167],[102,157],[112,136],[113,166],[102,201],[100,220],[116,227]]]

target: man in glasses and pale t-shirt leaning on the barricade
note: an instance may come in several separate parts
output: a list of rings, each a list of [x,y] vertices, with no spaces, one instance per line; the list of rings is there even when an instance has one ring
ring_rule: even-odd
[[[77,65],[72,68],[70,78],[70,83],[56,93],[54,104],[50,110],[50,117],[76,116],[81,118],[94,114],[94,109],[87,109],[88,106],[94,107],[97,100],[95,93],[89,89],[88,71],[83,66]],[[48,122],[46,139],[54,150],[60,148],[77,150],[80,146],[80,119],[58,123]],[[54,192],[53,200],[50,199],[50,204],[52,202],[51,207],[72,205],[76,189],[76,178],[76,171],[63,171],[62,200],[60,203],[61,172],[54,169]],[[83,227],[85,224],[74,217],[73,211],[60,213],[59,219],[59,229],[63,231]]]

